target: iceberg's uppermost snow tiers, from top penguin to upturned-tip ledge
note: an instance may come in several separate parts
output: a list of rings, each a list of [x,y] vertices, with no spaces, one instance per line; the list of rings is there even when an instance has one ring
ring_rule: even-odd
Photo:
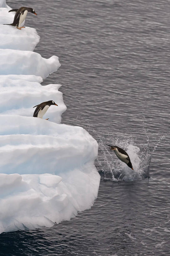
[[[0,2],[4,7],[5,1]],[[5,6],[6,7],[6,6]],[[0,75],[35,75],[46,78],[60,67],[57,56],[49,59],[32,52],[40,37],[34,28],[3,25],[13,22],[15,12],[8,13],[9,8],[0,8]],[[35,17],[37,18],[37,17]]]

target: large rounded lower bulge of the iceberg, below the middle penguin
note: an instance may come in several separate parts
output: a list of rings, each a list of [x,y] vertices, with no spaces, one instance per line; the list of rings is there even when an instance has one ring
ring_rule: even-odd
[[[0,131],[0,233],[50,227],[92,206],[100,175],[88,132],[17,115],[1,115]]]

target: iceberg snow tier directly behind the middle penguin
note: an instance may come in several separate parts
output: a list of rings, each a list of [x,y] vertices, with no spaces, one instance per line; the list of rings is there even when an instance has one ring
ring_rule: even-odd
[[[34,78],[35,79],[35,78]],[[51,106],[43,118],[61,123],[61,114],[66,110],[62,93],[58,91],[60,84],[48,84],[29,82],[20,79],[10,79],[0,76],[0,114],[17,114],[33,116],[34,106],[41,102],[54,100],[58,107]]]

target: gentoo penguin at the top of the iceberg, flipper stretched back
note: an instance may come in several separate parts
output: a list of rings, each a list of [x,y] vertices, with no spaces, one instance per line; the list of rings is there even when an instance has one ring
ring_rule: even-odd
[[[29,8],[29,7],[21,7],[19,9],[12,9],[8,13],[10,13],[10,12],[16,12],[14,20],[13,20],[13,23],[11,23],[11,24],[3,24],[3,25],[11,25],[11,26],[17,27],[20,30],[22,28],[25,28],[25,27],[21,27],[21,24],[25,20],[28,12],[29,13],[34,13],[35,15],[37,15],[35,13],[34,9]]]

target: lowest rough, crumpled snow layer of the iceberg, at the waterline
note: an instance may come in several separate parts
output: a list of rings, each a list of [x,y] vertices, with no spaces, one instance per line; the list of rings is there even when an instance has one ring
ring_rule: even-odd
[[[0,174],[0,233],[51,227],[89,209],[100,182],[94,164],[61,175]]]

